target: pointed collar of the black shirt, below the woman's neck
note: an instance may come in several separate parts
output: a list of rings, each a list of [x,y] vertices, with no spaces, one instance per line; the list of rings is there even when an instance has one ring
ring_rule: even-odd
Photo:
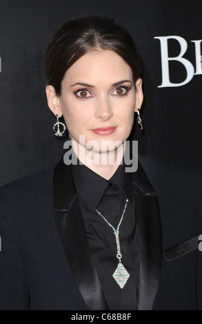
[[[119,165],[113,176],[106,180],[83,164],[71,165],[72,176],[78,196],[94,212],[102,199],[109,183],[114,183],[132,203],[132,179],[130,172],[125,172],[125,164]]]

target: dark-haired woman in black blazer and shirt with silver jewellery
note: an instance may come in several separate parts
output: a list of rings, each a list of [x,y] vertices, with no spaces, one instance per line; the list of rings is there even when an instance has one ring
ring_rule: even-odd
[[[0,308],[200,309],[199,171],[139,156],[126,172],[134,112],[143,128],[130,34],[106,17],[68,21],[46,75],[54,134],[63,115],[73,150],[1,188]]]

